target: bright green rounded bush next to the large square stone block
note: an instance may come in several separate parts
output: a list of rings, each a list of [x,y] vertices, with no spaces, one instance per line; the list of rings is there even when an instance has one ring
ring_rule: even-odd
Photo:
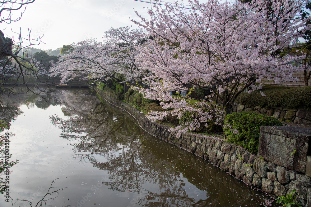
[[[282,122],[255,112],[239,112],[228,114],[224,121],[224,131],[228,142],[257,153],[260,126],[283,126]]]

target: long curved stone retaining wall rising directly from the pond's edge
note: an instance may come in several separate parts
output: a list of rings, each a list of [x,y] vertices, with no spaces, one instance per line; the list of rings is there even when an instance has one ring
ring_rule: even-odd
[[[114,103],[114,99],[105,95],[103,91],[95,87],[93,89],[109,103]],[[234,146],[217,137],[184,133],[176,138],[174,132],[168,131],[168,126],[151,122],[131,105],[119,101],[117,107],[131,114],[149,134],[209,160],[237,179],[243,180],[244,183],[274,197],[285,196],[287,192],[296,189],[296,200],[302,206],[311,206],[311,178],[309,176],[265,161],[262,157],[257,157],[244,148]]]

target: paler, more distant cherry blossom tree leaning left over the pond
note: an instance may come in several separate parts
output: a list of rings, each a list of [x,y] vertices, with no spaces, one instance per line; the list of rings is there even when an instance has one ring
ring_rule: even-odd
[[[136,55],[139,30],[130,27],[109,29],[103,42],[94,39],[72,44],[74,50],[64,55],[53,68],[52,75],[60,75],[61,82],[80,79],[114,82],[136,81],[142,72]]]

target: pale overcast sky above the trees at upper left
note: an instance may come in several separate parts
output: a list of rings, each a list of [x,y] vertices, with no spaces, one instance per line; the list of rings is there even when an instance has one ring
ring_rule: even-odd
[[[21,27],[22,35],[26,36],[30,28],[34,38],[44,35],[42,41],[46,42],[33,47],[54,50],[91,37],[101,40],[111,27],[137,27],[130,19],[138,20],[134,9],[148,18],[143,7],[151,6],[133,0],[36,0],[27,6],[21,20],[2,23],[1,30],[7,28],[4,33],[11,37],[11,28],[18,32]]]

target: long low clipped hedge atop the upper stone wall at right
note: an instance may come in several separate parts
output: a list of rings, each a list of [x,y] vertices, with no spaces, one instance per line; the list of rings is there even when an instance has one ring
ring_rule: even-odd
[[[248,107],[305,107],[311,110],[311,86],[291,88],[266,85],[262,92],[266,96],[262,96],[258,91],[250,94],[243,92],[237,97],[236,102]]]

